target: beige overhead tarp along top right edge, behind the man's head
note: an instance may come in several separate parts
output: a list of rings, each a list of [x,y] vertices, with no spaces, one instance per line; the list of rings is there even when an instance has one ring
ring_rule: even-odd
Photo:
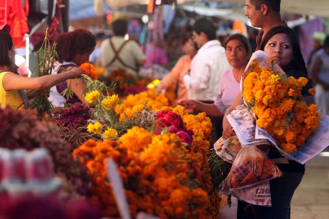
[[[209,0],[210,2],[219,2],[218,0]],[[245,0],[225,0],[226,2],[242,3]],[[318,17],[329,17],[328,0],[281,0],[281,11],[307,14]]]

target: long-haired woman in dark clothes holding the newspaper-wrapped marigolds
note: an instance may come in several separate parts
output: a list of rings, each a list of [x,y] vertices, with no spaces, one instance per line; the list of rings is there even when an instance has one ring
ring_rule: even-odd
[[[300,51],[298,38],[290,28],[283,26],[272,28],[266,33],[264,40],[260,44],[260,48],[274,58],[288,77],[307,78],[306,66]],[[309,81],[305,84],[302,87],[301,94],[307,104],[312,104],[313,96],[309,94],[309,89],[312,88],[312,85]],[[240,104],[242,104],[241,92],[225,113],[223,120],[224,139],[236,135],[226,116]],[[268,157],[276,163],[283,172],[283,176],[269,181],[272,207],[251,205],[252,212],[256,219],[290,218],[291,198],[302,180],[305,172],[305,164],[299,164],[283,158],[275,147],[270,148]]]

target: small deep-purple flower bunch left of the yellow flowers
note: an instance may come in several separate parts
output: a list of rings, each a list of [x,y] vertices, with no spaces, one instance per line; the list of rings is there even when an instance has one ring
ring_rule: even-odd
[[[66,108],[54,112],[54,123],[65,124],[65,126],[84,126],[91,118],[90,108],[82,103],[67,104]]]

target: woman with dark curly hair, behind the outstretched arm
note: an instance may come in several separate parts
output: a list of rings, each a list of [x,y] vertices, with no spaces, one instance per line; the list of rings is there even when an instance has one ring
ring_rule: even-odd
[[[68,33],[59,34],[55,41],[57,43],[56,51],[58,59],[55,62],[55,69],[52,74],[61,74],[66,69],[80,66],[89,60],[89,55],[94,51],[96,46],[95,36],[88,30],[77,29]],[[61,93],[67,88],[67,84],[71,84],[73,96],[66,100]],[[83,87],[86,81],[78,79],[68,79],[50,90],[49,100],[55,107],[63,107],[64,103],[86,103],[83,97]]]

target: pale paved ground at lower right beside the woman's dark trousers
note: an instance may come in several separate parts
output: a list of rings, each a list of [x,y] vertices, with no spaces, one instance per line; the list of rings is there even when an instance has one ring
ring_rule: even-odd
[[[329,148],[326,148],[329,152]],[[219,219],[236,218],[236,209],[221,208]],[[329,157],[316,156],[306,163],[306,171],[291,201],[291,219],[329,218]]]

